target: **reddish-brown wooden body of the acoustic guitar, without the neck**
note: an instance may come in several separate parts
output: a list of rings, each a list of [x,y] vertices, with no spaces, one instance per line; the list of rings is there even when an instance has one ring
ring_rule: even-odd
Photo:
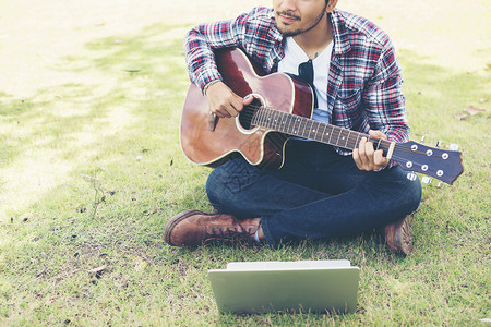
[[[313,94],[307,84],[283,73],[265,75],[237,49],[217,51],[215,57],[224,83],[237,95],[252,95],[261,106],[311,118]],[[180,125],[183,153],[191,161],[211,167],[241,155],[251,165],[280,168],[288,136],[266,128],[248,126],[240,118],[241,114],[217,118],[211,129],[206,96],[191,84]]]

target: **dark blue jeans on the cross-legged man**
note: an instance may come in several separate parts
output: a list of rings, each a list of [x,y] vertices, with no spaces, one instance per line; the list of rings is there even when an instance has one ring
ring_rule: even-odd
[[[345,237],[386,226],[418,208],[419,180],[400,167],[361,171],[330,145],[290,140],[279,170],[242,158],[216,168],[206,192],[220,213],[261,217],[268,244],[282,240]]]

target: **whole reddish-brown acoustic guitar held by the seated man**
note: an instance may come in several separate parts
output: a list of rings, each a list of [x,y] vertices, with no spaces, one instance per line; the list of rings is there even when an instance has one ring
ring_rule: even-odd
[[[416,142],[394,143],[312,120],[313,92],[299,78],[284,73],[264,74],[239,49],[215,52],[223,81],[237,95],[253,97],[236,118],[209,114],[206,96],[191,84],[185,97],[180,142],[193,162],[216,167],[230,157],[243,156],[251,165],[280,168],[290,136],[355,149],[362,137],[404,170],[420,172],[452,184],[464,168],[456,150],[429,147]],[[416,178],[414,173],[408,178]]]

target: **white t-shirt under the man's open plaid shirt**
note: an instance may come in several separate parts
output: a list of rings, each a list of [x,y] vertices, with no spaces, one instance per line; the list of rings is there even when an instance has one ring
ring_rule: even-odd
[[[314,87],[318,96],[318,108],[314,108],[312,119],[328,122],[327,117],[327,76],[330,73],[331,55],[333,43],[331,43],[322,53],[312,60],[314,70]],[[287,37],[285,44],[285,57],[278,62],[278,72],[298,75],[298,66],[309,60],[309,57],[295,41],[292,37]]]

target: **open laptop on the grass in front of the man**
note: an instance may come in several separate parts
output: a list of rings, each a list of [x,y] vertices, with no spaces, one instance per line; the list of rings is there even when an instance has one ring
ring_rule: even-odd
[[[360,269],[349,261],[249,262],[208,277],[219,312],[352,313]]]

